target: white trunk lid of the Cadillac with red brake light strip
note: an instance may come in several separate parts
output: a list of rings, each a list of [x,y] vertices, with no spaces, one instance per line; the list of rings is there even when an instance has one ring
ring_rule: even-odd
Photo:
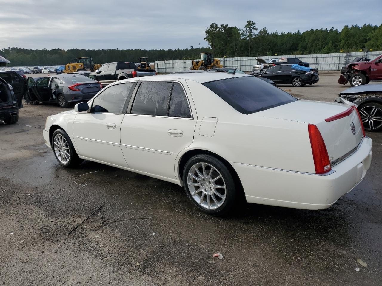
[[[350,156],[363,138],[361,122],[355,108],[347,116],[325,121],[349,108],[351,106],[346,104],[299,100],[252,115],[316,125],[324,139],[330,163],[333,166]],[[308,133],[308,127],[306,132]]]

